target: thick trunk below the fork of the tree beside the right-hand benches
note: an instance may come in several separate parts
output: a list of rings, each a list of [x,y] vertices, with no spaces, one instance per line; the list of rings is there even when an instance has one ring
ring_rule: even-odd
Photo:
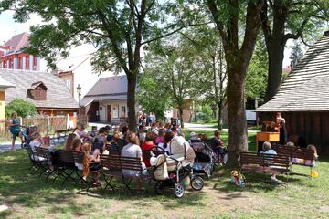
[[[248,132],[245,105],[247,68],[228,64],[228,168],[238,167],[239,153],[248,151]]]

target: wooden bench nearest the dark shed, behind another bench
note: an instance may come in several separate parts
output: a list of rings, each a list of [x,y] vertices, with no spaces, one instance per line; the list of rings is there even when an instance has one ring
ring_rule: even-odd
[[[302,159],[304,161],[308,160],[311,161],[311,163],[314,162],[314,154],[313,151],[310,149],[290,147],[285,145],[272,145],[272,150],[277,151],[279,155],[288,156],[291,162],[293,161],[293,159]],[[292,164],[310,167],[311,171],[313,169],[313,165],[304,165],[303,163],[295,163],[295,162],[292,162]],[[293,174],[300,174],[300,173],[293,173]]]

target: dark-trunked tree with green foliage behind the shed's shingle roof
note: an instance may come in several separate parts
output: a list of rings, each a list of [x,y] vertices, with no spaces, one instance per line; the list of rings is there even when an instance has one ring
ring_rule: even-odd
[[[327,0],[263,0],[260,13],[262,31],[269,57],[269,79],[266,100],[276,94],[282,79],[284,47],[288,39],[313,37],[317,28],[328,20]]]

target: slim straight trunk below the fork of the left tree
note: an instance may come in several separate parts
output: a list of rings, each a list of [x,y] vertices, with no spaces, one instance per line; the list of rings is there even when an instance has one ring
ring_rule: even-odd
[[[128,128],[129,130],[136,130],[136,112],[135,112],[135,89],[136,89],[136,74],[128,75],[128,95],[127,95],[127,106],[128,106]]]

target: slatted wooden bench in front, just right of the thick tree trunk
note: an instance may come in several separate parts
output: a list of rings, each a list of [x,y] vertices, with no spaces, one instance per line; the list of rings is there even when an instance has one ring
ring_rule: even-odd
[[[283,155],[241,152],[240,165],[241,172],[256,172],[270,175],[288,175],[291,172],[291,162],[289,160],[289,157]],[[263,182],[266,183],[267,181]]]

